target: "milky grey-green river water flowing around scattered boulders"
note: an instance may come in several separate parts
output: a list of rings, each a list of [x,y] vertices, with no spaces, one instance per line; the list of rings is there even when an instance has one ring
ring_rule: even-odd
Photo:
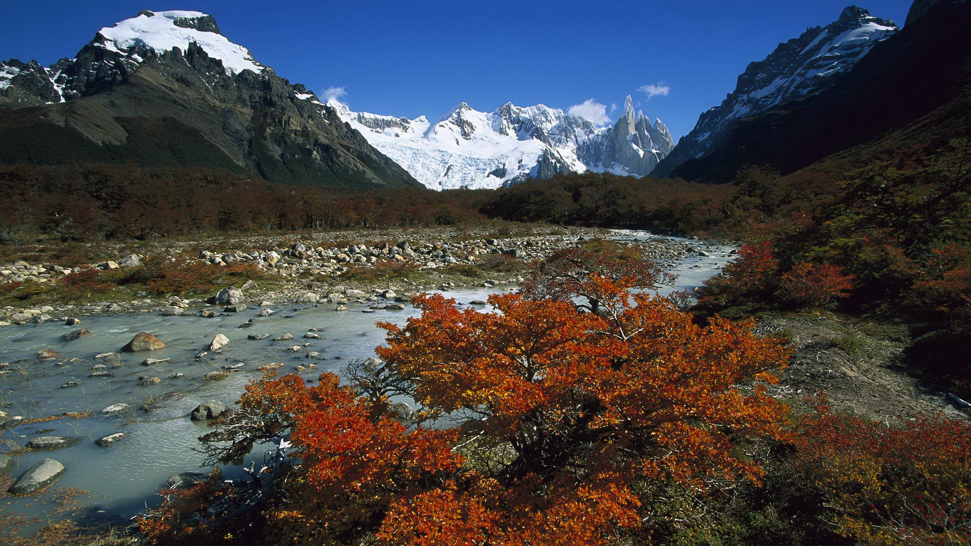
[[[617,238],[650,237],[644,232],[617,231]],[[669,290],[693,289],[716,274],[730,256],[731,247],[704,242],[694,243],[710,256],[683,260],[670,270],[678,275]],[[512,288],[466,289],[444,292],[463,306],[472,300],[485,300],[489,293]],[[662,291],[669,291],[662,290]],[[0,361],[9,361],[11,371],[0,376],[0,408],[10,416],[40,418],[64,412],[94,412],[84,419],[59,419],[0,430],[0,451],[25,445],[37,436],[77,436],[82,440],[72,447],[54,451],[31,451],[15,457],[13,475],[19,476],[36,462],[51,458],[67,468],[64,475],[40,495],[14,497],[0,492],[0,512],[48,517],[55,495],[64,488],[84,490],[82,517],[93,521],[122,521],[131,518],[160,499],[155,495],[168,476],[200,468],[202,455],[194,451],[198,436],[207,430],[205,423],[192,422],[189,412],[200,402],[216,399],[227,404],[235,401],[251,380],[260,376],[257,366],[283,362],[280,373],[293,371],[297,365],[315,367],[299,372],[308,379],[320,372],[340,372],[353,358],[374,356],[374,348],[384,341],[383,330],[375,323],[385,321],[403,324],[414,310],[378,310],[364,313],[367,305],[351,303],[350,311],[334,311],[332,304],[280,305],[276,314],[259,317],[260,307],[251,306],[243,313],[203,319],[195,313],[181,317],[162,317],[155,313],[86,317],[80,326],[60,322],[7,326],[0,328]],[[485,309],[485,306],[477,306]],[[193,311],[193,310],[189,310]],[[194,310],[196,313],[198,310]],[[254,324],[239,328],[250,319]],[[92,334],[70,343],[60,336],[78,327]],[[316,328],[320,339],[304,339]],[[151,353],[123,353],[120,359],[96,360],[95,355],[117,352],[140,331],[149,331],[167,347]],[[229,344],[218,354],[197,359],[213,337],[221,333]],[[248,339],[252,333],[268,333],[261,341]],[[272,341],[284,333],[290,341]],[[289,353],[293,345],[309,343],[308,351],[320,354],[308,359],[304,353]],[[37,361],[41,349],[60,354],[54,360]],[[26,361],[17,363],[18,359]],[[169,361],[142,365],[146,358],[169,358]],[[237,371],[219,381],[206,381],[203,375],[223,366],[240,364]],[[89,377],[97,364],[108,366],[103,371],[113,377]],[[170,378],[182,373],[183,377]],[[157,385],[140,386],[139,376],[161,379]],[[61,388],[69,382],[77,387]],[[104,415],[100,410],[125,403],[127,411]],[[151,411],[140,409],[146,404]],[[115,432],[125,438],[111,447],[101,447],[95,440]],[[254,457],[257,462],[260,457]],[[242,474],[239,468],[223,468],[226,477]]]

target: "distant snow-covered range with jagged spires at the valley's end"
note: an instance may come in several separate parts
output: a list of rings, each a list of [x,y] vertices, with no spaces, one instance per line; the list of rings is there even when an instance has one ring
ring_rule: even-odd
[[[507,103],[485,113],[463,102],[433,123],[352,112],[336,100],[327,105],[433,189],[499,188],[587,170],[644,176],[673,148],[659,119],[635,117],[630,97],[615,127],[542,104]]]

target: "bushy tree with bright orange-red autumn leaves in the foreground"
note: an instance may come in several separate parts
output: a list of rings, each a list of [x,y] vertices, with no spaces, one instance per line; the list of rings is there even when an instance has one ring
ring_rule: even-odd
[[[370,397],[330,374],[252,384],[209,440],[239,461],[287,438],[291,470],[263,510],[266,541],[606,544],[649,534],[645,480],[757,481],[738,448],[787,434],[787,406],[766,392],[787,359],[781,343],[751,323],[692,324],[622,280],[587,283],[600,314],[521,294],[491,296],[488,313],[415,298],[419,317],[380,324],[385,364],[372,379],[395,385],[371,385]],[[386,392],[402,384],[419,423],[436,427],[394,419]]]

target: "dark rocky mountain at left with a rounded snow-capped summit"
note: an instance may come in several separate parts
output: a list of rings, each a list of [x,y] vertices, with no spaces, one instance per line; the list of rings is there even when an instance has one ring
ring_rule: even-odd
[[[50,67],[0,63],[0,163],[133,162],[296,184],[417,184],[311,96],[219,34],[213,17],[145,11]]]

